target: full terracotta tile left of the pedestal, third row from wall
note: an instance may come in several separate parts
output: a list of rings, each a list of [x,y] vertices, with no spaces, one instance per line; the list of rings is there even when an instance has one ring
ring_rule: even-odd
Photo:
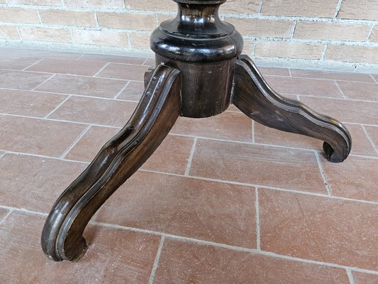
[[[37,88],[38,91],[82,94],[91,97],[116,97],[127,82],[102,78],[55,75]]]

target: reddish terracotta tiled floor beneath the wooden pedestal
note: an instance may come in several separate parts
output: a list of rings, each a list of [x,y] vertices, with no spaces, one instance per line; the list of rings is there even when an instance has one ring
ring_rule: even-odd
[[[348,126],[352,153],[231,106],[179,118],[99,210],[77,263],[48,261],[53,202],[126,123],[151,60],[0,49],[0,283],[378,283],[378,76],[261,68]]]

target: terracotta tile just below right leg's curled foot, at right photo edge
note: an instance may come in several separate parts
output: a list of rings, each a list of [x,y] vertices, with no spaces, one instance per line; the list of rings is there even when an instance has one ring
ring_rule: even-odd
[[[323,168],[333,195],[378,202],[377,159],[352,156],[343,163],[323,163]]]

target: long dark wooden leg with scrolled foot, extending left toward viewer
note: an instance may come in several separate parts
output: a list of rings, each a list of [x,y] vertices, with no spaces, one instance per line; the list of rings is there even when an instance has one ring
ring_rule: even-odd
[[[75,261],[84,255],[87,244],[82,234],[89,220],[167,136],[179,116],[180,94],[179,70],[157,66],[128,124],[52,207],[41,239],[49,258]]]

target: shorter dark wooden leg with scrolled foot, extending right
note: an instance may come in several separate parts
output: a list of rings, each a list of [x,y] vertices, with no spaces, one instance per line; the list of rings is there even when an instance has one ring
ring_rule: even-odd
[[[342,162],[348,157],[352,146],[348,129],[299,101],[279,96],[248,56],[238,58],[234,80],[232,102],[251,119],[274,129],[325,141],[323,149],[331,162]]]

